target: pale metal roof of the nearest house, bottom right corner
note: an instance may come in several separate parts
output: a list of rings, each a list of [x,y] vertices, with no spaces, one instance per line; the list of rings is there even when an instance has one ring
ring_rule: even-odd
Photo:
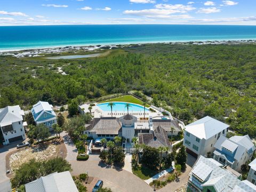
[[[223,169],[222,167],[210,161],[209,158],[205,158],[203,156],[198,157],[197,162],[195,163],[193,169],[191,170],[191,176],[189,178],[191,182],[195,183],[195,178],[193,176],[194,170],[197,169],[198,175],[205,175],[205,171],[203,169],[204,167],[206,167],[205,165],[207,167],[211,167],[212,171],[208,175],[207,179],[203,182],[203,184],[200,184],[201,186],[199,186],[199,188],[202,188],[203,186],[213,186],[217,192],[231,192],[241,190],[245,190],[247,192],[255,192],[255,190],[252,187],[246,185],[246,183],[237,179],[236,175],[227,171],[226,169]],[[202,168],[199,169],[197,167]],[[206,170],[209,169],[207,167]],[[195,184],[199,185],[199,182]]]

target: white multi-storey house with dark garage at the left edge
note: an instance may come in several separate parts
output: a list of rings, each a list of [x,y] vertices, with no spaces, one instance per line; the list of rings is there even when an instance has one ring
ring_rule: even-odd
[[[11,142],[26,139],[26,134],[23,125],[24,111],[20,106],[7,106],[0,109],[0,127],[3,135],[3,145]]]

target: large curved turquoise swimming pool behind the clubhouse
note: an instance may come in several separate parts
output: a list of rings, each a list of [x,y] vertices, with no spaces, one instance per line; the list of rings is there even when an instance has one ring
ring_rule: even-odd
[[[97,106],[103,111],[111,111],[111,108],[108,106],[108,103],[109,102],[99,103],[99,104],[97,104]],[[113,102],[113,103],[115,103],[115,106],[113,107],[113,111],[123,111],[123,112],[127,111],[127,108],[125,107],[126,102]],[[143,106],[140,106],[140,105],[137,105],[134,103],[130,103],[130,105],[131,105],[131,107],[129,107],[130,112],[132,112],[132,111],[143,112],[144,111]],[[149,111],[149,110],[146,108],[146,111]]]

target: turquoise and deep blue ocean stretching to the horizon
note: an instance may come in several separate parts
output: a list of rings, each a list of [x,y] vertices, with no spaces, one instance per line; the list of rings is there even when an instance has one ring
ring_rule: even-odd
[[[62,25],[2,26],[0,50],[129,43],[256,39],[256,26]]]

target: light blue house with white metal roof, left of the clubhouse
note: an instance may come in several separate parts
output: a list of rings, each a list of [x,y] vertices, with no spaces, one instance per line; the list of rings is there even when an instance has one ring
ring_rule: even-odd
[[[43,123],[49,127],[50,131],[53,130],[52,125],[57,123],[57,115],[52,107],[49,102],[38,101],[31,109],[36,124]]]

